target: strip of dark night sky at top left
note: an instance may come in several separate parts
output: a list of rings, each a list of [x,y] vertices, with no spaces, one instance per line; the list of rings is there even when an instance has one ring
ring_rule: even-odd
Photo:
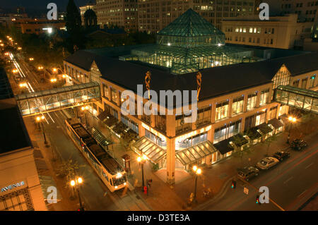
[[[23,6],[27,13],[34,10],[47,11],[47,4],[50,2],[57,4],[58,11],[66,11],[66,5],[69,0],[0,0],[0,8],[9,9]],[[74,2],[79,7],[88,4],[90,0],[74,0]]]

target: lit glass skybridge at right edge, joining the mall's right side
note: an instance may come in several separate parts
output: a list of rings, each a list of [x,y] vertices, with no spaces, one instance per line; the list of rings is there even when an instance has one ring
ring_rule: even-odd
[[[318,114],[318,92],[291,86],[278,86],[275,101]]]

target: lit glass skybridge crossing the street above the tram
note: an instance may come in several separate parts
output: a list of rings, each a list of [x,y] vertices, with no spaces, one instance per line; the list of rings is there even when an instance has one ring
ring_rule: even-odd
[[[100,86],[93,82],[83,83],[15,97],[22,116],[33,116],[100,101]]]

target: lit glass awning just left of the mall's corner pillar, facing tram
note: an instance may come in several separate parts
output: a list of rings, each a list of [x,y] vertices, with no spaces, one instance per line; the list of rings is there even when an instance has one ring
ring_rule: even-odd
[[[154,163],[158,163],[167,154],[167,151],[159,147],[154,142],[143,136],[139,138],[131,147],[141,154],[145,154],[148,159]]]

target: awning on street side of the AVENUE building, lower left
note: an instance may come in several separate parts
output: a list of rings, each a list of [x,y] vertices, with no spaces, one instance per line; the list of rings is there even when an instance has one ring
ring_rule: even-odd
[[[57,188],[57,184],[53,180],[52,176],[39,176],[39,179],[45,203],[49,205],[61,201],[61,193],[59,192],[59,190],[55,189]],[[54,196],[55,190],[57,195]]]

